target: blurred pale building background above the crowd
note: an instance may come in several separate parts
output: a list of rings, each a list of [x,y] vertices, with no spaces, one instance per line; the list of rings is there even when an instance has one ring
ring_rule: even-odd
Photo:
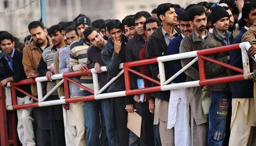
[[[45,0],[46,26],[72,21],[82,13],[97,19],[119,19],[139,11],[151,13],[161,3],[179,4],[181,8],[201,1],[219,0]],[[28,25],[41,18],[40,0],[0,0],[0,31],[8,31],[21,42],[30,35]]]

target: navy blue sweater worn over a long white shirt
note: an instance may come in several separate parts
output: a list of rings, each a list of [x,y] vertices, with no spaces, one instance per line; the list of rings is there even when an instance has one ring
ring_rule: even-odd
[[[181,34],[178,35],[178,37],[172,39],[172,41],[169,43],[167,48],[167,55],[180,53],[180,43],[182,39],[183,38]],[[169,61],[167,62],[167,65],[168,65],[170,77],[172,77],[175,73],[177,73],[179,70],[182,69],[180,60]],[[186,74],[183,72],[178,77],[174,78],[172,82],[174,83],[186,82],[186,79],[187,79]]]

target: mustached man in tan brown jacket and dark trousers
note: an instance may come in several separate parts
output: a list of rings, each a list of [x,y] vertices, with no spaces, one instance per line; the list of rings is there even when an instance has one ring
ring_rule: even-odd
[[[39,21],[33,21],[29,24],[29,32],[33,38],[33,42],[29,43],[29,45],[23,49],[22,64],[27,78],[33,80],[33,78],[38,77],[37,66],[42,57],[42,52],[46,47],[52,46],[52,42],[46,37],[46,29]],[[37,96],[37,85],[31,84],[30,87],[32,95]],[[42,91],[43,95],[45,95],[45,88],[43,88]],[[34,108],[36,140],[38,146],[50,145],[50,120],[48,119],[48,114],[49,107]]]

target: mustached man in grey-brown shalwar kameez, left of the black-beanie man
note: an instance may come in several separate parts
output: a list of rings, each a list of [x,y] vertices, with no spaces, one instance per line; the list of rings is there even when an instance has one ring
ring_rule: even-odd
[[[182,39],[180,53],[201,50],[203,42],[210,36],[206,30],[206,11],[202,6],[194,6],[188,11],[189,24],[194,27],[191,34]],[[181,66],[184,67],[195,57],[181,59]],[[194,63],[184,71],[187,75],[186,81],[200,80],[199,66]],[[201,105],[202,87],[187,88],[187,109],[190,119],[191,145],[207,146],[208,115],[204,115]],[[200,133],[200,135],[198,135]]]

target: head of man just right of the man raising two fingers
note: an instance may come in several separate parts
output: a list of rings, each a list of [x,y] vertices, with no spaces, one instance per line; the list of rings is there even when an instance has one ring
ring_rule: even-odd
[[[135,29],[135,20],[133,17],[125,17],[122,20],[122,24],[124,27],[124,33],[129,39],[132,39],[137,35],[137,31]]]

